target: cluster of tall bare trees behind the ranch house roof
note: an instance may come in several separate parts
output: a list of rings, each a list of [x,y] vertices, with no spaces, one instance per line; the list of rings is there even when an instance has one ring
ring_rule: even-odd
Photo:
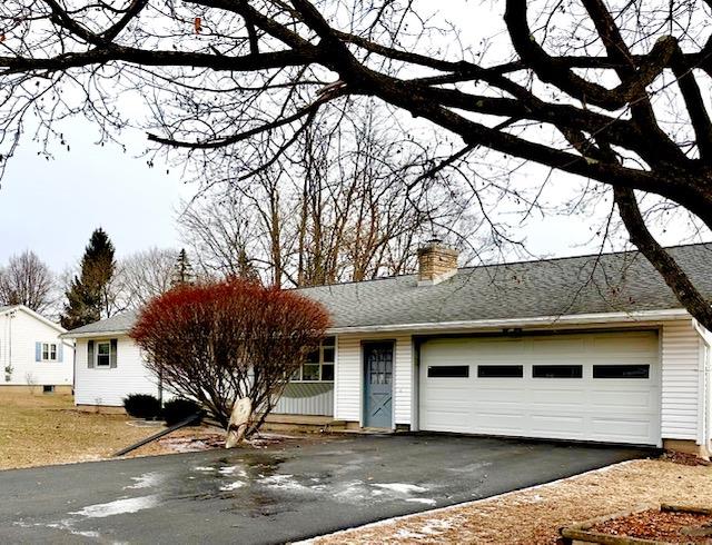
[[[379,123],[387,112],[358,113],[317,117],[249,186],[212,184],[191,200],[178,222],[200,266],[303,287],[409,272],[436,232],[464,242],[466,198],[451,180],[418,179],[428,155]]]

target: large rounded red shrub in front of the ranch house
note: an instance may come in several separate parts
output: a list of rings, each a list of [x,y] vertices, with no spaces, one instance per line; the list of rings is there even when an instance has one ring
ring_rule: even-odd
[[[253,403],[255,432],[293,373],[318,347],[326,309],[294,291],[230,280],[181,286],[150,301],[130,331],[148,367],[227,428],[236,399]]]

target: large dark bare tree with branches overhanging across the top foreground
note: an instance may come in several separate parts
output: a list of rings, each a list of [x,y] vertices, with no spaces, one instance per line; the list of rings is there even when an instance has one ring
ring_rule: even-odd
[[[610,188],[631,240],[712,328],[709,301],[640,206],[642,194],[654,195],[712,227],[710,1],[503,0],[493,4],[504,8],[501,29],[467,11],[449,28],[433,26],[433,6],[7,0],[0,138],[11,152],[29,112],[40,138],[71,112],[112,137],[138,92],[154,107],[156,149],[185,150],[198,172],[216,151],[240,155],[234,181],[245,182],[319,110],[375,98],[392,108],[383,122],[412,135],[426,123],[441,141],[461,140],[425,178],[515,157]],[[472,189],[481,200],[483,188]]]

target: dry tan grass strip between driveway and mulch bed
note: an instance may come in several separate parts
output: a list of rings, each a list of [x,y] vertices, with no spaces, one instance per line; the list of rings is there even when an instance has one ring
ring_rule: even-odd
[[[316,544],[555,544],[558,528],[643,505],[712,506],[712,467],[635,460],[491,499],[376,523]]]

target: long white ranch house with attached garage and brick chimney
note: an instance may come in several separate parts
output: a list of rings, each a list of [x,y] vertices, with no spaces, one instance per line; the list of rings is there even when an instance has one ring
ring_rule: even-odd
[[[669,250],[712,297],[712,245]],[[640,254],[458,269],[457,252],[433,242],[418,258],[416,275],[298,290],[334,325],[279,413],[348,427],[710,448],[712,336]],[[134,319],[67,334],[77,339],[78,404],[157,392],[126,336]]]

